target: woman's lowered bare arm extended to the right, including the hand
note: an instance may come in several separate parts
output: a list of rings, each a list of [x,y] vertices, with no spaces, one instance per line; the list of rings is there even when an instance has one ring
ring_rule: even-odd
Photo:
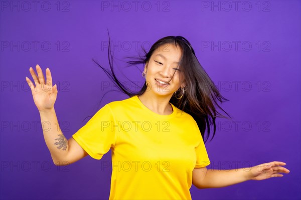
[[[270,177],[282,177],[281,173],[289,170],[280,161],[267,162],[248,168],[238,169],[207,169],[206,167],[193,170],[193,184],[197,188],[225,187],[246,180],[263,180]]]

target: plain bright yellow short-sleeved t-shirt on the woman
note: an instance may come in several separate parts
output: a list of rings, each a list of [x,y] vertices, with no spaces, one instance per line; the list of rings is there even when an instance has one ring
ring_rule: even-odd
[[[191,199],[192,170],[210,160],[194,118],[148,109],[137,95],[112,101],[72,136],[100,159],[112,152],[109,199]]]

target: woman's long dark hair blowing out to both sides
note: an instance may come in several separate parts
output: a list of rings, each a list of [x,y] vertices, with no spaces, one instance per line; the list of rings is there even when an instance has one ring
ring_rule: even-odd
[[[213,139],[216,131],[216,117],[228,118],[222,115],[220,112],[217,111],[216,106],[223,110],[219,105],[219,102],[224,102],[228,99],[223,97],[217,87],[214,85],[213,81],[206,73],[205,69],[200,64],[199,60],[196,57],[195,51],[191,46],[190,42],[183,36],[166,36],[158,41],[156,41],[152,47],[150,47],[149,51],[146,50],[142,46],[142,50],[144,52],[143,56],[138,57],[127,57],[136,60],[126,61],[129,65],[136,65],[136,64],[146,64],[149,61],[150,56],[154,53],[154,51],[162,47],[162,45],[169,45],[175,44],[176,46],[179,45],[182,49],[182,56],[179,62],[179,68],[181,71],[184,72],[184,78],[186,82],[186,90],[182,98],[178,99],[176,97],[181,95],[182,89],[179,88],[177,92],[173,94],[170,99],[170,102],[178,107],[179,109],[187,112],[190,114],[198,124],[200,132],[202,134],[204,142],[210,136],[210,125],[213,124],[214,131],[211,140]],[[107,76],[114,81],[118,88],[128,95],[132,97],[134,95],[141,95],[147,88],[146,82],[143,84],[139,91],[131,91],[130,89],[126,88],[122,82],[118,80],[114,73],[113,69],[113,55],[110,50],[110,35],[109,35],[109,45],[108,45],[108,60],[111,71],[102,67],[94,58],[92,60],[103,69],[103,71],[107,74]],[[172,77],[173,78],[173,77]],[[172,79],[171,78],[171,79]],[[131,81],[131,80],[130,80]],[[135,84],[133,81],[131,81]],[[179,94],[177,94],[179,93]],[[230,118],[231,116],[223,110]],[[205,130],[207,128],[207,137],[205,139]]]

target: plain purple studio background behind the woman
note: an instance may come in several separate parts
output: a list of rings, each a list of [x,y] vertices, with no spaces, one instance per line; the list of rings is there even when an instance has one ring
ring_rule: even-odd
[[[35,7],[32,1],[2,0],[0,5],[1,199],[108,199],[111,168],[102,166],[110,165],[111,151],[101,160],[87,156],[55,166],[25,80],[32,79],[30,66],[39,64],[44,74],[51,69],[59,86],[57,117],[70,138],[86,116],[127,98],[112,91],[98,104],[111,90],[107,85],[113,86],[91,60],[108,67],[106,28],[118,77],[126,80],[124,73],[140,84],[141,72],[123,68],[124,56],[137,55],[142,43],[148,50],[148,44],[168,35],[192,43],[230,100],[222,107],[233,116],[233,121],[217,119],[216,136],[206,143],[208,168],[277,160],[290,170],[283,177],[223,188],[193,185],[193,199],[301,198],[300,1],[240,1],[237,7],[233,1],[139,1],[136,9],[132,1],[39,1]]]

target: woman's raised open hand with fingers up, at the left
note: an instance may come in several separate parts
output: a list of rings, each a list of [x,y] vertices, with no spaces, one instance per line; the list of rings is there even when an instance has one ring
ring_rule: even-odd
[[[57,98],[57,85],[55,84],[54,86],[52,86],[51,72],[48,67],[46,68],[46,80],[44,78],[43,71],[38,64],[36,65],[36,69],[38,72],[38,76],[32,67],[29,68],[29,71],[35,81],[35,85],[27,76],[26,81],[31,88],[34,102],[38,110],[50,110],[54,108],[54,103]]]

